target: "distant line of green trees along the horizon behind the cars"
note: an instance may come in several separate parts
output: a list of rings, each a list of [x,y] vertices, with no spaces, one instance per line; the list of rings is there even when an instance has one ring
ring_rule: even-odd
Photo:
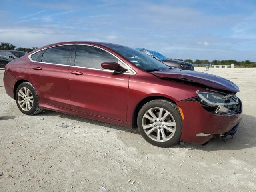
[[[17,51],[24,51],[24,52],[30,52],[33,51],[35,49],[37,49],[37,47],[32,47],[32,48],[24,48],[24,47],[19,47],[16,48],[16,46],[14,46],[13,44],[10,43],[1,43],[0,44],[0,50],[17,50]],[[207,59],[196,59],[196,60],[192,60],[192,59],[175,59],[175,60],[180,60],[180,61],[185,61],[185,62],[189,62],[192,64],[198,64],[198,65],[230,65],[231,63],[234,63],[235,66],[240,66],[240,67],[256,67],[256,62],[252,62],[249,60],[245,60],[245,61],[236,61],[236,60],[212,60],[209,61]]]

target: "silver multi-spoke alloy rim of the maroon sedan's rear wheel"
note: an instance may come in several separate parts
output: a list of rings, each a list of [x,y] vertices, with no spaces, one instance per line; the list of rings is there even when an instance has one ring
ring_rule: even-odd
[[[33,95],[32,92],[26,88],[20,88],[18,92],[18,104],[24,111],[29,111],[33,106]]]

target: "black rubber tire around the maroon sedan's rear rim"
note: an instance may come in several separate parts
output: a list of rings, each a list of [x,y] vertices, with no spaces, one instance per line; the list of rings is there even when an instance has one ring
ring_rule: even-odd
[[[33,96],[33,104],[32,104],[32,107],[30,110],[26,111],[26,110],[23,110],[21,107],[20,107],[20,104],[18,103],[18,93],[20,91],[20,89],[22,88],[28,88]],[[20,109],[20,111],[26,115],[34,115],[34,114],[38,114],[40,112],[43,111],[43,108],[40,108],[39,107],[39,100],[38,100],[38,94],[36,93],[36,90],[35,88],[32,86],[31,83],[29,82],[24,82],[24,83],[21,83],[17,90],[16,90],[16,94],[15,94],[15,99],[16,99],[16,104],[18,106],[18,108]]]

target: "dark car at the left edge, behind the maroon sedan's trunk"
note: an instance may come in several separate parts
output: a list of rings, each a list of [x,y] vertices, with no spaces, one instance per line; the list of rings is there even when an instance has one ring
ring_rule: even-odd
[[[22,57],[26,54],[24,51],[0,50],[0,67],[4,67],[8,62]]]

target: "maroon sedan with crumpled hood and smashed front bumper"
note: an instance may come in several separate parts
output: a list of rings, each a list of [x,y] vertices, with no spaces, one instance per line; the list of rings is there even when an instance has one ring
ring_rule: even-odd
[[[160,147],[233,137],[242,118],[239,89],[231,81],[170,68],[109,43],[62,42],[34,50],[5,66],[4,86],[24,114],[48,109],[138,127]]]

